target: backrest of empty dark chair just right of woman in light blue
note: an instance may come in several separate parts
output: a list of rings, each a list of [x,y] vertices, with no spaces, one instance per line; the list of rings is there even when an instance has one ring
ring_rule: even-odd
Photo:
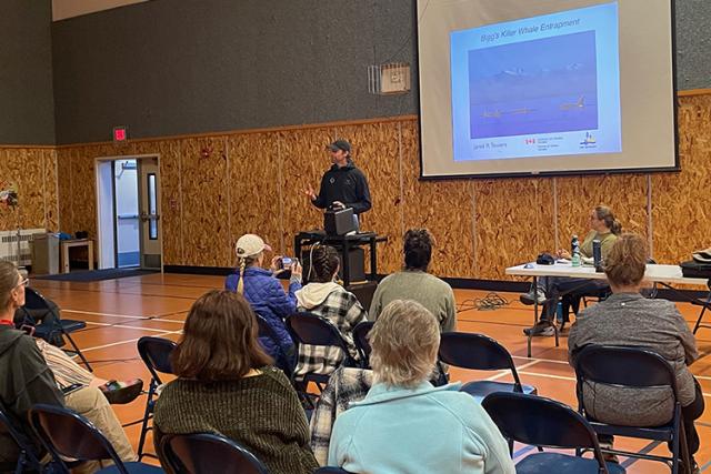
[[[520,443],[560,448],[591,448],[607,473],[598,436],[590,423],[554,400],[523,393],[497,392],[481,403],[501,434]]]

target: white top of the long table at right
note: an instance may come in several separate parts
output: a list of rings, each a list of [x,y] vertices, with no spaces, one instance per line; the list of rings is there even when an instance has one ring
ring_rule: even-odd
[[[539,265],[538,263],[525,263],[510,266],[505,271],[507,275],[518,276],[570,276],[578,279],[604,280],[604,273],[595,272],[593,266],[572,266],[570,263],[555,263],[554,265]],[[700,284],[705,285],[707,279],[691,279],[681,274],[679,265],[647,265],[644,280],[649,282]]]

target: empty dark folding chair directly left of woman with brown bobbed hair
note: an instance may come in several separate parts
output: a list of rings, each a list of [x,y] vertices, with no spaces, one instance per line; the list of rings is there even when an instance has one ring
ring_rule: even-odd
[[[170,354],[178,344],[173,341],[162,337],[143,336],[138,340],[138,353],[143,360],[148,372],[151,374],[151,382],[148,385],[148,396],[146,397],[146,410],[143,412],[143,420],[141,420],[141,436],[138,442],[138,458],[139,461],[143,456],[157,457],[150,453],[143,453],[143,446],[146,444],[146,435],[152,427],[148,426],[148,421],[153,417],[153,410],[156,409],[156,390],[163,382],[159,374],[172,374],[172,366],[170,364]]]

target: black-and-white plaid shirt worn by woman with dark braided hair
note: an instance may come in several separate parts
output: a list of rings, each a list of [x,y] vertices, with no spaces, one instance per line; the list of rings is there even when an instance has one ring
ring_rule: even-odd
[[[359,360],[358,350],[353,343],[353,327],[361,321],[365,321],[368,313],[353,293],[341,288],[332,291],[318,306],[310,309],[299,306],[298,311],[308,311],[331,321],[348,343],[351,356]],[[300,344],[294,374],[299,379],[306,374],[329,375],[338,369],[342,360],[343,353],[340,347]]]

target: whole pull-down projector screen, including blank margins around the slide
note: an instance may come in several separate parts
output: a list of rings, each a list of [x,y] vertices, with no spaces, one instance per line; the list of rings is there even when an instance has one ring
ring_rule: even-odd
[[[421,177],[679,169],[673,0],[417,0]]]

